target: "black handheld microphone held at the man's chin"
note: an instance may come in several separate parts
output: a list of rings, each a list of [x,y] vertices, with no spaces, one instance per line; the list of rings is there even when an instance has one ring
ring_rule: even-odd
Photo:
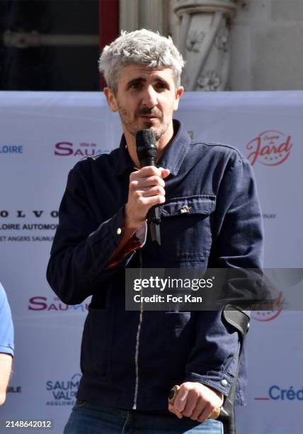
[[[139,130],[136,134],[137,155],[141,167],[156,166],[156,134],[153,130]],[[161,245],[160,236],[160,209],[159,206],[153,206],[147,213],[149,230],[151,231],[151,240]]]

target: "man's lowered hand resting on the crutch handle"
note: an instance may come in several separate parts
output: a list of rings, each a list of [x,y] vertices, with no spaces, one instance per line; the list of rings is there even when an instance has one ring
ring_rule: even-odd
[[[193,421],[205,422],[212,412],[223,404],[223,394],[198,382],[181,384],[173,406],[168,410],[178,418],[186,416]]]

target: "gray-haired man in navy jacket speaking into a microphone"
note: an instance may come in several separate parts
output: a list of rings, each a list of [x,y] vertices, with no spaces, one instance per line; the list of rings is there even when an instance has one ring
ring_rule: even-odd
[[[118,111],[120,148],[69,173],[47,279],[67,304],[92,295],[81,344],[76,433],[222,433],[210,419],[236,375],[239,336],[222,311],[125,311],[125,268],[261,267],[261,211],[250,165],[234,148],[191,142],[173,111],[184,62],[149,30],[122,32],[99,62]],[[141,167],[136,134],[156,135]],[[147,230],[159,206],[161,245]],[[168,406],[171,387],[178,396]],[[244,402],[245,374],[237,401]],[[177,417],[176,417],[177,416]]]

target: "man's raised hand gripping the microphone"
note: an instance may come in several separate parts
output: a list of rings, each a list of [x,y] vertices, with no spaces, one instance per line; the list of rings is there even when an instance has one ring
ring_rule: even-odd
[[[130,187],[125,205],[125,226],[137,229],[147,219],[151,206],[164,204],[168,169],[146,166],[130,174]]]

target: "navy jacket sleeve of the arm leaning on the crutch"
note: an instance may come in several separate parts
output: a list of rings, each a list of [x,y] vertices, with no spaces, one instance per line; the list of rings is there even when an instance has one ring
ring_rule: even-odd
[[[229,160],[217,192],[209,268],[260,268],[263,221],[253,170],[237,154]],[[185,367],[185,381],[201,382],[229,394],[236,374],[239,335],[222,311],[200,311],[195,345]]]

